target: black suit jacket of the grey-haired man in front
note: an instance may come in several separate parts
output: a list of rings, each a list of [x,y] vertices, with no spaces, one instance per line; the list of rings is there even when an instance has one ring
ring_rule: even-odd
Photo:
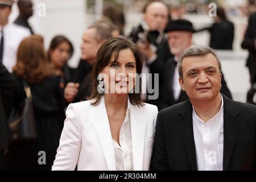
[[[224,170],[256,169],[256,106],[224,99]],[[151,170],[197,170],[189,100],[158,114]]]

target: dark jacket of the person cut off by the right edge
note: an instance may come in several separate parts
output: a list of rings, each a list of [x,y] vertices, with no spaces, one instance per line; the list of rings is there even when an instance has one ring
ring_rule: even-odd
[[[251,82],[256,72],[256,49],[255,49],[255,39],[256,39],[256,13],[250,15],[247,30],[245,32],[245,38],[242,42],[242,48],[248,49],[249,57],[246,61],[246,66],[249,68]]]

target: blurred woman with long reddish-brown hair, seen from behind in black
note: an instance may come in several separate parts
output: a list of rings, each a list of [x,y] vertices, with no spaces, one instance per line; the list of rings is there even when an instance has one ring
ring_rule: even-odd
[[[50,170],[64,119],[59,80],[48,63],[43,38],[31,35],[22,40],[13,70],[14,107],[22,109],[26,97],[24,82],[30,86],[36,122],[36,139],[16,140],[10,145],[10,169]],[[38,164],[38,152],[46,152],[46,164]]]

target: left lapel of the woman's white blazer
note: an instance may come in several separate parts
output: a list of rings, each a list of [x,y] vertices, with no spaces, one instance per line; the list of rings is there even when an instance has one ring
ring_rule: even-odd
[[[95,113],[93,119],[93,127],[100,142],[102,152],[105,156],[106,163],[110,171],[116,171],[117,165],[115,163],[115,153],[112,135],[109,126],[108,114],[106,113],[106,106],[104,97],[101,97],[100,104],[95,106]]]

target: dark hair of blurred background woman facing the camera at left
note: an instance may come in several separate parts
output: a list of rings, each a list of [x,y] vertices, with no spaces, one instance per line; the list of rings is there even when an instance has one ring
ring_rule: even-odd
[[[70,56],[69,56],[69,59],[72,57],[73,55],[73,52],[74,52],[74,48],[73,48],[73,45],[72,43],[63,35],[57,35],[55,36],[52,41],[51,41],[51,44],[49,46],[49,50],[48,50],[48,59],[51,60],[51,51],[53,51],[54,49],[56,49],[58,46],[60,46],[60,44],[62,43],[68,43],[69,46],[70,46]]]

